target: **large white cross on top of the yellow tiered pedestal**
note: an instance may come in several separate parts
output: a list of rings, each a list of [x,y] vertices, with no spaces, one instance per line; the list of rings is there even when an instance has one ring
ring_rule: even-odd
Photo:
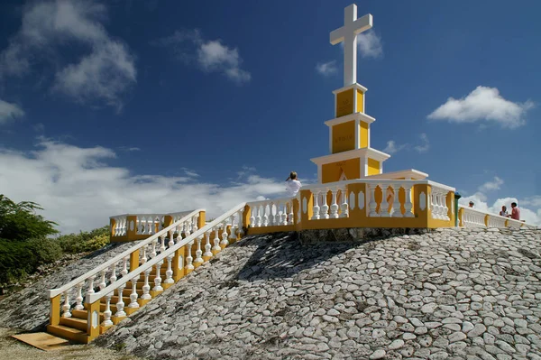
[[[357,19],[357,5],[344,9],[344,26],[331,32],[331,43],[344,42],[344,87],[357,82],[357,35],[372,27],[372,15]]]

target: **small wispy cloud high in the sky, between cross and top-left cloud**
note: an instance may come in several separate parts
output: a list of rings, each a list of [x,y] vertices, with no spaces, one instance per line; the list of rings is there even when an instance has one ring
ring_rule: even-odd
[[[252,79],[250,72],[241,69],[243,59],[238,48],[230,48],[220,39],[205,40],[198,29],[176,31],[152,43],[172,49],[179,60],[195,62],[205,72],[222,73],[237,84]]]

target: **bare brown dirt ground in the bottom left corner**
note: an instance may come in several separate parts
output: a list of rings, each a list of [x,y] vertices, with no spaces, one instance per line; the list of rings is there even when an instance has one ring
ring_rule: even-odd
[[[0,359],[10,360],[139,360],[133,355],[124,355],[115,350],[92,345],[63,346],[59,350],[42,351],[14,339],[14,328],[0,328]]]

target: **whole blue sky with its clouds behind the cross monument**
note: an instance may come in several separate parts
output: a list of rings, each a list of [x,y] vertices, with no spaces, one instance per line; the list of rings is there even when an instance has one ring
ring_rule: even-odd
[[[342,86],[334,2],[5,1],[0,189],[63,231],[314,181]],[[371,146],[541,225],[541,4],[357,3]],[[508,204],[509,205],[509,204]]]

